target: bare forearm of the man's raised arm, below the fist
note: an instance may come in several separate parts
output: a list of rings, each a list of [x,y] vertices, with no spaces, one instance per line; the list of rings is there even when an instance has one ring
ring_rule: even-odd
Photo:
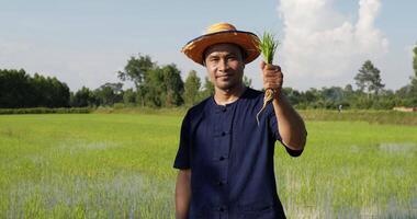
[[[303,118],[282,92],[273,99],[272,104],[283,143],[292,150],[302,150],[307,137]]]

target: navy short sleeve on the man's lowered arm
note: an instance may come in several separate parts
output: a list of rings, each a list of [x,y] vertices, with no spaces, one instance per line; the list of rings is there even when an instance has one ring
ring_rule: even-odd
[[[190,169],[190,118],[189,113],[185,115],[181,125],[180,143],[177,152],[176,160],[173,162],[174,169]]]

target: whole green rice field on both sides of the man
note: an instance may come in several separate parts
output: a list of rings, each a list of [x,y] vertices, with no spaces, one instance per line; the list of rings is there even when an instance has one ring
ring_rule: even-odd
[[[416,115],[417,116],[417,115]],[[181,115],[0,116],[0,218],[173,218]],[[417,218],[417,126],[306,120],[277,143],[289,218]]]

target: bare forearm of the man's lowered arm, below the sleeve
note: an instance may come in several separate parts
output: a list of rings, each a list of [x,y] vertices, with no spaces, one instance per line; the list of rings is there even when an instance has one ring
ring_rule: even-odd
[[[176,185],[176,218],[187,219],[191,199],[191,170],[178,172]]]

